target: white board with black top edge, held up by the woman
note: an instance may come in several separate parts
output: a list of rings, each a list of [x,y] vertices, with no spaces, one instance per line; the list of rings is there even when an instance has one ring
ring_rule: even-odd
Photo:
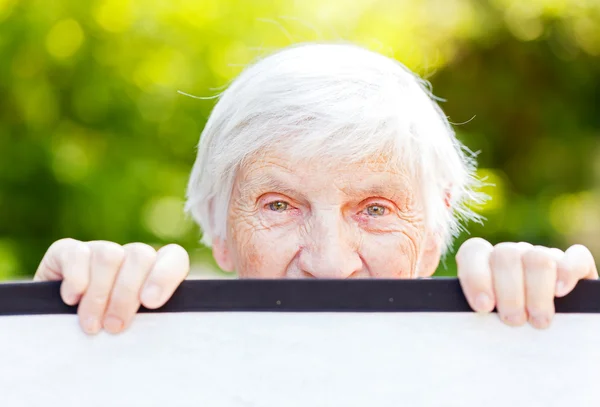
[[[589,298],[598,284],[558,304],[559,312],[566,312],[559,313],[549,329],[539,331],[507,327],[495,314],[456,312],[464,304],[450,297],[440,300],[436,292],[443,284],[428,291],[433,282],[408,287],[415,296],[433,293],[429,297],[434,306],[449,311],[419,312],[407,306],[411,298],[394,297],[390,302],[390,292],[403,292],[407,283],[390,283],[385,289],[381,283],[363,285],[369,299],[386,291],[389,304],[407,311],[390,312],[382,302],[378,311],[364,312],[371,306],[363,304],[364,309],[334,312],[335,305],[323,307],[328,290],[340,299],[340,306],[364,303],[364,298],[340,294],[343,289],[336,285],[313,284],[292,291],[317,292],[314,298],[306,296],[303,306],[321,309],[293,312],[285,304],[299,298],[290,297],[288,288],[294,283],[279,296],[273,293],[280,298],[273,310],[244,311],[243,302],[250,308],[256,305],[253,294],[232,298],[245,283],[216,283],[221,285],[215,291],[211,283],[200,289],[204,283],[194,282],[173,302],[180,309],[187,304],[185,312],[167,307],[141,313],[125,333],[94,337],[81,332],[73,314],[40,315],[43,301],[25,295],[25,302],[15,305],[25,312],[0,316],[0,405],[600,405],[600,314],[594,312],[597,301]],[[278,283],[264,284],[272,291]],[[448,284],[456,288],[456,283]],[[208,295],[210,301],[220,295],[236,310],[227,311],[223,303],[218,311],[193,311],[214,309],[214,303],[202,299],[195,298],[196,305],[185,301],[195,292],[206,294],[210,287],[216,293]],[[361,291],[358,288],[353,294]],[[27,288],[19,290],[4,292],[23,293]],[[5,296],[0,314],[15,313],[6,304],[8,297],[14,300],[13,294]],[[54,295],[46,301],[47,309],[57,306],[56,299]],[[35,306],[27,308],[27,301]],[[581,313],[573,308],[577,306]]]

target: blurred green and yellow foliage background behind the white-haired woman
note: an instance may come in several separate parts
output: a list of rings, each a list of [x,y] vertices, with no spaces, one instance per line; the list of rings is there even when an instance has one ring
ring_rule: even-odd
[[[600,258],[598,0],[0,0],[0,280],[62,237],[175,242],[194,275],[231,277],[182,212],[214,100],[178,91],[314,40],[393,56],[447,100],[496,185],[472,235]]]

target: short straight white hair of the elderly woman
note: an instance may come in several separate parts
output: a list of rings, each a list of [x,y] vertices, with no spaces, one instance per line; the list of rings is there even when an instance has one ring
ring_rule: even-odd
[[[200,137],[186,211],[201,242],[226,239],[240,166],[279,146],[324,162],[383,154],[415,177],[427,227],[441,234],[445,253],[461,221],[480,220],[468,203],[481,197],[475,159],[427,85],[399,62],[352,44],[294,45],[246,68],[219,96]]]

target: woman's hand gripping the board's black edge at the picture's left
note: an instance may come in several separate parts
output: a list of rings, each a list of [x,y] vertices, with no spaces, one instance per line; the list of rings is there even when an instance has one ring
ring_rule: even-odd
[[[125,330],[140,305],[164,305],[190,270],[188,253],[170,244],[158,251],[147,244],[61,239],[44,255],[34,281],[62,281],[60,294],[78,305],[84,332]]]

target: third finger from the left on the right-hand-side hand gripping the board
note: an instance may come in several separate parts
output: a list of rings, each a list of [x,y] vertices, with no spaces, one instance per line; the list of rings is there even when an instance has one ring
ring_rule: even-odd
[[[525,304],[532,326],[544,329],[554,317],[556,287],[555,255],[546,248],[533,248],[523,254]]]

